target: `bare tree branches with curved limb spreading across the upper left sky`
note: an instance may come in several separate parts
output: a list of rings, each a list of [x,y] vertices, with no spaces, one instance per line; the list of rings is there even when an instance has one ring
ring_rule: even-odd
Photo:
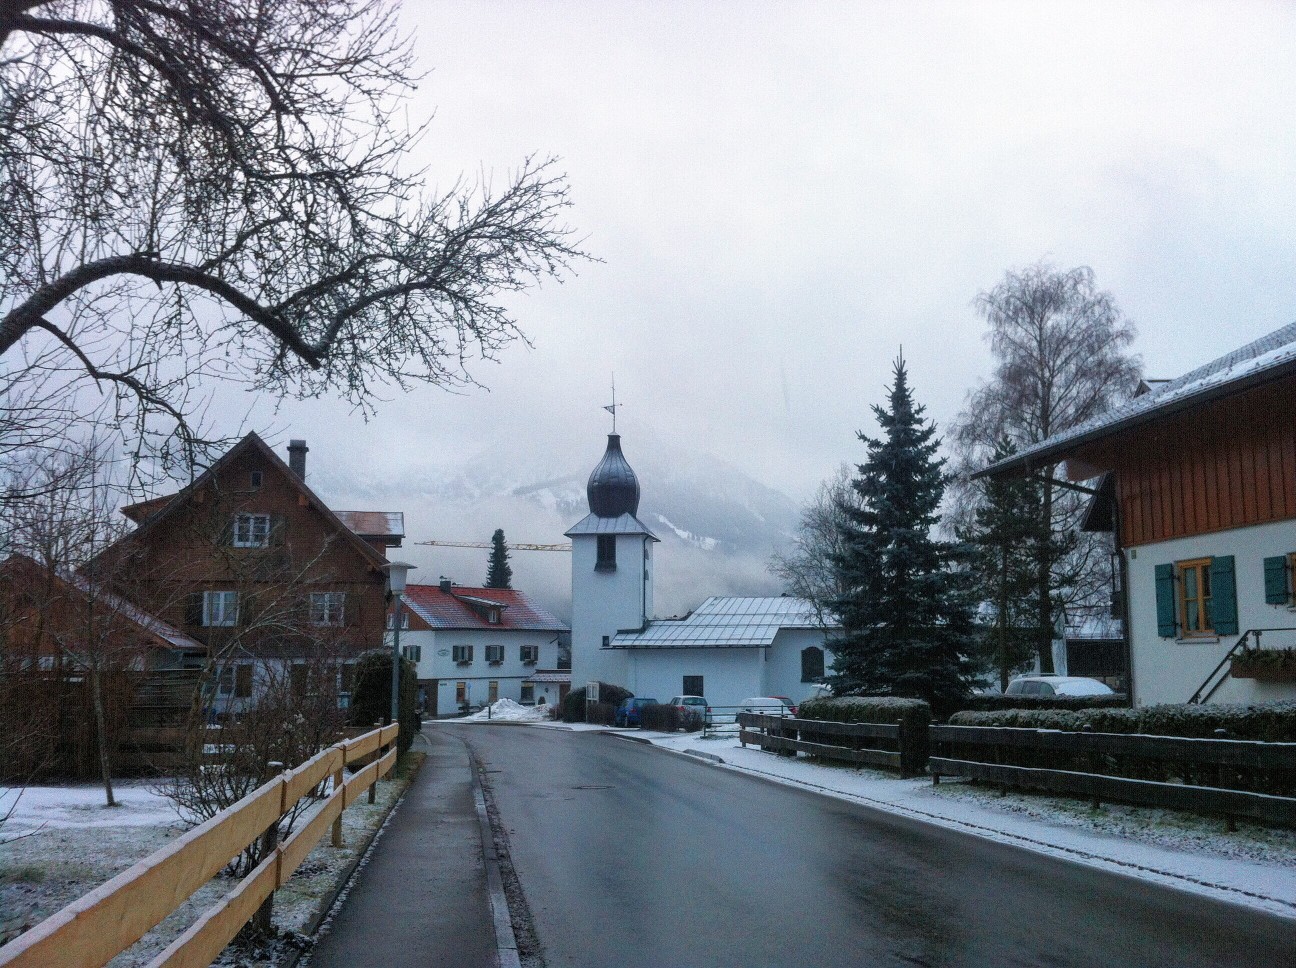
[[[97,394],[187,469],[214,380],[472,382],[525,338],[503,297],[584,257],[551,161],[407,170],[416,80],[391,3],[0,0],[0,403],[57,426]]]

